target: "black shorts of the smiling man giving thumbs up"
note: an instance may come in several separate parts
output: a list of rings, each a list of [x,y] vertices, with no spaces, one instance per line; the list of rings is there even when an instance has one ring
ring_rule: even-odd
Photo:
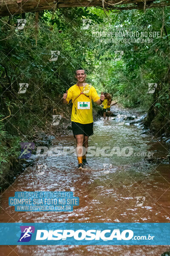
[[[71,127],[73,131],[73,135],[84,134],[85,136],[93,135],[93,122],[90,124],[80,124],[78,122],[71,122]]]

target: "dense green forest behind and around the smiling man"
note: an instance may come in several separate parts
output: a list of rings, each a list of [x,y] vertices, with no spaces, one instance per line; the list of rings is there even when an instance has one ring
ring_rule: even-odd
[[[17,30],[21,18],[26,25]],[[90,20],[87,27],[84,20]],[[152,26],[159,38],[150,44],[104,41],[102,33],[111,26],[142,25]],[[145,125],[156,136],[170,133],[168,7],[106,14],[95,7],[64,8],[3,17],[0,29],[1,163],[10,164],[20,153],[20,142],[51,125],[54,109],[68,116],[70,107],[63,108],[60,99],[76,82],[77,67],[85,68],[98,93],[107,91],[124,107],[146,111]],[[59,51],[57,61],[50,61],[51,51]],[[123,52],[118,60],[115,51]],[[18,93],[19,83],[28,83],[26,93]],[[147,93],[148,83],[157,84],[154,93]]]

